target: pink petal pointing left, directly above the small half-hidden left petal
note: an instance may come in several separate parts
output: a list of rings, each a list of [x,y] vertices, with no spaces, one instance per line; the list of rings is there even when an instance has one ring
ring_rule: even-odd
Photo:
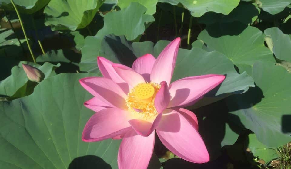
[[[86,77],[79,80],[80,84],[93,96],[111,107],[127,109],[123,90],[111,79],[104,77]]]

